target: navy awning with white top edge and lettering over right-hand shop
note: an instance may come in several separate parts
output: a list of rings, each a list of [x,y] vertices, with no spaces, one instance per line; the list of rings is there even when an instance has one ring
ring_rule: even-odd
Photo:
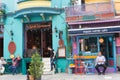
[[[90,35],[90,34],[104,34],[104,33],[120,33],[120,26],[97,27],[97,28],[83,28],[83,29],[69,29],[69,36],[76,35]]]

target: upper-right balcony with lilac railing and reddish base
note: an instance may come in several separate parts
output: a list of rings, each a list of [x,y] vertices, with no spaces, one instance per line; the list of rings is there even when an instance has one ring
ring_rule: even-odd
[[[112,2],[74,5],[65,11],[67,22],[111,19],[115,14]]]

